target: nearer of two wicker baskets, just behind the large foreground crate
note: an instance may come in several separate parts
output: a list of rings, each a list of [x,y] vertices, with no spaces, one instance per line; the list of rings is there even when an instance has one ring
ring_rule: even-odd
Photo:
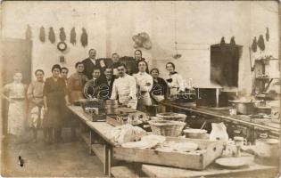
[[[151,120],[148,123],[152,128],[153,134],[163,136],[179,136],[186,125],[184,122],[168,120]]]

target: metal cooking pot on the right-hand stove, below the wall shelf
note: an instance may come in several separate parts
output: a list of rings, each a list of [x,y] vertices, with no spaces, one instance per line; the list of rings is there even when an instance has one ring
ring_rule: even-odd
[[[237,114],[250,115],[254,112],[254,102],[252,101],[230,101],[236,108]]]

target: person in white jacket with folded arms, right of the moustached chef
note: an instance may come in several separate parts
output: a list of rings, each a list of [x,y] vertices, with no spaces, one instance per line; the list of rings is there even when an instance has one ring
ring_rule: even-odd
[[[153,88],[153,77],[146,73],[146,61],[138,61],[138,72],[134,74],[137,86],[137,109],[145,111],[145,106],[152,105],[150,91]]]

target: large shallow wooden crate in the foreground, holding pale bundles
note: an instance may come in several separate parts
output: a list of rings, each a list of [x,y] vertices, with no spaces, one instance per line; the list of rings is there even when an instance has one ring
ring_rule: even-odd
[[[209,166],[216,158],[219,158],[219,156],[221,156],[224,147],[222,142],[213,142],[199,139],[167,137],[167,142],[169,141],[195,142],[199,145],[200,149],[205,149],[206,151],[201,153],[181,153],[115,147],[113,148],[113,158],[145,164],[203,170],[206,166]]]

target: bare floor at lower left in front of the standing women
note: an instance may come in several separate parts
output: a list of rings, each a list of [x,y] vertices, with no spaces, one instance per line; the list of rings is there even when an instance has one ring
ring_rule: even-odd
[[[10,138],[2,142],[2,170],[6,176],[103,176],[103,165],[95,155],[89,155],[84,142],[70,142],[70,132],[62,132],[64,142],[46,145],[40,140],[29,143],[14,143]],[[28,137],[28,136],[26,136]],[[40,135],[39,138],[42,138]],[[18,164],[19,156],[24,166]]]

